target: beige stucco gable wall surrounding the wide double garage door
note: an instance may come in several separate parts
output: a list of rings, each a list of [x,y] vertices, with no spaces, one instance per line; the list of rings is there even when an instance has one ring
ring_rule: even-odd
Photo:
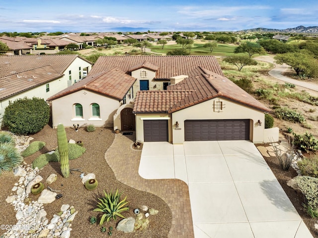
[[[172,113],[172,124],[177,121],[181,130],[172,130],[173,144],[184,142],[184,121],[185,120],[209,120],[209,119],[250,119],[250,140],[253,143],[263,143],[264,141],[264,112],[252,109],[242,104],[220,98],[223,102],[224,109],[222,112],[214,112],[213,102],[219,98],[214,98],[187,107],[180,111]],[[257,121],[262,122],[258,126]]]

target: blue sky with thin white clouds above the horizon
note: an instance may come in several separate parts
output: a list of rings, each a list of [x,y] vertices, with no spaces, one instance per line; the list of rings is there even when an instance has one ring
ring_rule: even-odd
[[[1,0],[0,32],[237,31],[318,26],[318,0]]]

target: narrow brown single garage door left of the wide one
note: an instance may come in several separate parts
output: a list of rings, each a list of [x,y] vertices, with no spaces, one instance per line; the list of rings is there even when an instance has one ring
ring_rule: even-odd
[[[168,141],[168,120],[144,120],[144,141]]]

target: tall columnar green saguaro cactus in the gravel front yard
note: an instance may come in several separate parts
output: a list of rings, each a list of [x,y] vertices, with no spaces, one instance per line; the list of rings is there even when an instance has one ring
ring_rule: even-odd
[[[69,147],[65,128],[61,123],[58,125],[58,150],[60,154],[62,175],[63,177],[67,178],[70,176]]]

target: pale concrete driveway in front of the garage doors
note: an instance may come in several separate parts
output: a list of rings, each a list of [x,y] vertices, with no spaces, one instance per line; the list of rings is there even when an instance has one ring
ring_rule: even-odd
[[[139,174],[188,184],[195,238],[313,238],[251,142],[146,142]]]

